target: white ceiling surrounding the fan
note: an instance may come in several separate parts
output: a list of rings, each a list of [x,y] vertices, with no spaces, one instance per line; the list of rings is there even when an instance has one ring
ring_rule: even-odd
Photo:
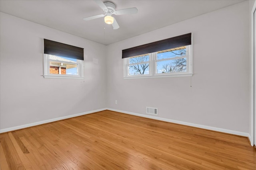
[[[93,0],[0,0],[0,11],[105,45],[140,35],[244,0],[111,0],[116,10],[138,8],[137,14],[114,16],[114,30]]]

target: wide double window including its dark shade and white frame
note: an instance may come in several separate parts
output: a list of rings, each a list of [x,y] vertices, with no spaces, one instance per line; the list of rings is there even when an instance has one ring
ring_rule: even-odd
[[[124,78],[192,76],[191,35],[122,50]]]

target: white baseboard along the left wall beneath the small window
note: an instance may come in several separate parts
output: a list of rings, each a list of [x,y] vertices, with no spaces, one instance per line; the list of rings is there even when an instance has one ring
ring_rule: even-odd
[[[86,111],[86,112],[78,113],[78,114],[74,114],[74,115],[68,115],[68,116],[63,116],[63,117],[57,117],[57,118],[54,118],[54,119],[48,119],[48,120],[44,120],[44,121],[38,121],[38,122],[35,122],[35,123],[29,123],[29,124],[26,124],[26,125],[20,125],[20,126],[15,126],[15,127],[9,127],[9,128],[6,128],[6,129],[0,129],[0,133],[9,132],[9,131],[15,131],[15,130],[18,130],[18,129],[24,129],[24,128],[32,127],[32,126],[36,126],[36,125],[42,125],[42,124],[45,124],[45,123],[50,123],[50,122],[54,122],[54,121],[58,121],[58,120],[68,119],[68,118],[71,118],[71,117],[77,117],[77,116],[81,116],[81,115],[87,115],[87,114],[90,114],[90,113],[95,113],[95,112],[103,111],[103,110],[106,110],[106,108],[104,108],[104,109],[92,110],[92,111]]]

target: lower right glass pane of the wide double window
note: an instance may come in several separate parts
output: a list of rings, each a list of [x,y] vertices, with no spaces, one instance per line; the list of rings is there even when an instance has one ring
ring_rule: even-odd
[[[158,61],[157,73],[168,73],[168,72],[186,72],[187,71],[187,61],[184,59],[168,60],[168,61]]]

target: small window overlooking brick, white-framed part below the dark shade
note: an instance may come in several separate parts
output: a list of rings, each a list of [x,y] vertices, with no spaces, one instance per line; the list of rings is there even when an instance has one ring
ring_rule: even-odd
[[[44,78],[83,78],[83,61],[44,54]]]

